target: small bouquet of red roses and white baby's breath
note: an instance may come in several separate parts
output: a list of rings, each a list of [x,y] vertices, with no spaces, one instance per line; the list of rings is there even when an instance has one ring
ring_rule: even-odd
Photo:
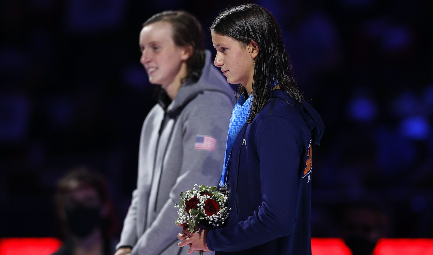
[[[185,224],[191,233],[195,232],[198,224],[220,227],[229,215],[226,206],[227,197],[215,191],[216,187],[196,184],[193,189],[181,192],[179,204],[179,218],[176,224]],[[231,208],[230,208],[231,209]]]

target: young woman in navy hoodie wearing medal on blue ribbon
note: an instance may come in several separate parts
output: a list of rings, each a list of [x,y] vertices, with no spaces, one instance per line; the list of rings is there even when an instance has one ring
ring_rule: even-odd
[[[312,144],[323,122],[304,101],[274,16],[255,4],[220,13],[210,28],[214,65],[241,84],[220,186],[226,226],[178,234],[178,246],[215,254],[311,254]]]

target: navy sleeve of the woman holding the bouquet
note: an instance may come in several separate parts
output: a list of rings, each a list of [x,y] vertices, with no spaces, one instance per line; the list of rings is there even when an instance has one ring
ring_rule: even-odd
[[[211,229],[207,234],[211,250],[235,252],[261,245],[289,235],[296,221],[299,131],[282,116],[267,116],[259,123],[253,141],[257,146],[262,204],[236,226]]]

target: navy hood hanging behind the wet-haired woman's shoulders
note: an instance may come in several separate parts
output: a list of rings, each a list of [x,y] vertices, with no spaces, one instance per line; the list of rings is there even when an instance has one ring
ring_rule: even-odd
[[[272,91],[271,98],[280,98],[284,101],[288,101],[291,106],[295,106],[301,115],[304,117],[305,122],[310,127],[311,142],[315,145],[320,145],[320,139],[323,136],[323,130],[325,125],[323,124],[322,118],[319,113],[305,101],[302,100],[302,105],[296,103],[287,92],[276,89]]]

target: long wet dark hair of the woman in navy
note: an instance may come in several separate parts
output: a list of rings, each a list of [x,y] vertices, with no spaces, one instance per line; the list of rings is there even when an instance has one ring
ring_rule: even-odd
[[[255,41],[259,45],[252,79],[253,100],[248,123],[251,123],[268,103],[275,80],[280,89],[302,104],[303,97],[290,71],[291,63],[280,27],[267,9],[257,4],[226,9],[216,17],[210,30],[235,38],[243,44]],[[239,92],[243,91],[243,86],[239,86]]]

